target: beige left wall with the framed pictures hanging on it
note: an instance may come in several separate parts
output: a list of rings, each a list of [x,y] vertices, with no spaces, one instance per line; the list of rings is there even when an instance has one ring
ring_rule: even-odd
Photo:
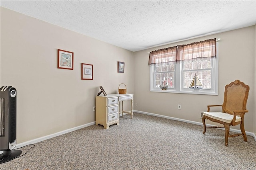
[[[74,52],[74,70],[57,68],[57,49]],[[93,80],[81,80],[81,63]],[[1,7],[0,85],[17,89],[17,143],[95,121],[99,86],[113,94],[120,83],[134,92],[133,52]]]

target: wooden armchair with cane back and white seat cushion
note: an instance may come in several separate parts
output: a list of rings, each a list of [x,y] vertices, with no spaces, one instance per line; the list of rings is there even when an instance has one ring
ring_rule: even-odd
[[[228,137],[236,137],[243,135],[244,141],[247,142],[246,133],[244,130],[244,114],[246,110],[246,102],[248,99],[249,86],[235,80],[225,86],[224,102],[222,105],[209,105],[207,112],[203,113],[202,122],[204,125],[203,134],[206,131],[205,119],[218,122],[224,125],[225,128],[225,145],[228,146]],[[222,112],[210,112],[210,107],[222,107]],[[240,125],[242,134],[229,135],[230,125]],[[219,126],[210,126],[218,128]]]

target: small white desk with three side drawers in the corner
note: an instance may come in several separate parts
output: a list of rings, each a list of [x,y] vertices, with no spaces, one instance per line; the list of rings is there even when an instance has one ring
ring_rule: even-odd
[[[119,104],[122,102],[123,113],[131,114],[132,117],[133,94],[108,94],[107,96],[96,96],[96,125],[103,125],[108,129],[110,125],[119,125]],[[131,111],[124,111],[123,101],[131,100]]]

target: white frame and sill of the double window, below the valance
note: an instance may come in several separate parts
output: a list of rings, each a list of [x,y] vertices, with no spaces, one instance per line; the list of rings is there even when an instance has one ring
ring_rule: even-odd
[[[218,95],[218,58],[218,42],[216,42],[216,58],[212,59],[211,68],[211,89],[183,88],[183,61],[180,61],[180,63],[175,64],[174,88],[168,88],[167,90],[154,87],[154,64],[150,66],[150,92]],[[207,68],[207,70],[209,69]]]

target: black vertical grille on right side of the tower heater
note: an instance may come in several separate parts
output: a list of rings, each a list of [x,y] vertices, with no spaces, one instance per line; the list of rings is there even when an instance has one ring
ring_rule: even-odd
[[[10,143],[16,140],[16,96],[10,98]]]

